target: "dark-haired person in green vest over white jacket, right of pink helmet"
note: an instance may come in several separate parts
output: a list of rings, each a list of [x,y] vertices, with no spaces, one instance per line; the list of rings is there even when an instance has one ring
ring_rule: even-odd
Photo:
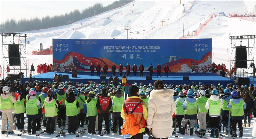
[[[43,89],[45,91],[45,88]],[[47,90],[47,98],[45,98],[42,108],[45,111],[45,116],[47,117],[46,123],[46,133],[53,134],[55,127],[55,117],[58,115],[57,107],[59,106],[59,101],[54,100],[52,97],[52,90]]]

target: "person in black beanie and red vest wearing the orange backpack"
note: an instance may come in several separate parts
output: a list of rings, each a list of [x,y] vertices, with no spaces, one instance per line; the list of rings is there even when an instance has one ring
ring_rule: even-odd
[[[138,105],[138,107],[136,107],[136,113],[132,113],[132,116],[135,118],[138,125],[140,125],[140,131],[138,134],[132,136],[132,138],[143,139],[143,132],[145,132],[146,127],[145,121],[148,118],[147,104],[139,98],[139,88],[137,86],[131,85],[128,90],[129,97],[122,105],[121,117],[125,120],[125,115],[131,113],[135,106]]]

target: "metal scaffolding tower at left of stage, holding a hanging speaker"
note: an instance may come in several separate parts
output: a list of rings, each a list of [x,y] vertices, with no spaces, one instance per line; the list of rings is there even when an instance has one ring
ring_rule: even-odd
[[[10,71],[13,71],[13,73],[15,74],[21,74],[21,71],[26,71],[26,77],[28,77],[27,75],[27,46],[26,46],[26,37],[27,34],[21,34],[21,33],[1,33],[2,36],[2,54],[3,54],[3,79],[4,79],[4,73],[7,73],[7,69],[5,68],[5,66],[9,66],[9,51],[8,51],[8,45],[9,44],[19,44],[19,50],[20,50],[20,66],[10,66]],[[25,38],[25,44],[22,43],[21,39]],[[11,40],[12,41],[11,41]],[[5,41],[4,41],[5,40]],[[6,42],[6,40],[8,40],[8,43]],[[4,49],[6,49],[7,53],[4,53]],[[5,56],[8,55],[8,56]],[[4,64],[4,60],[6,61],[7,65]]]

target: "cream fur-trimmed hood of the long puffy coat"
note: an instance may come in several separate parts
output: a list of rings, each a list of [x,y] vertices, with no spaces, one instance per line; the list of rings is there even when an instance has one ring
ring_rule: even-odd
[[[161,89],[161,90],[152,90],[150,92],[150,97],[158,98],[162,101],[168,101],[174,94],[173,89]]]

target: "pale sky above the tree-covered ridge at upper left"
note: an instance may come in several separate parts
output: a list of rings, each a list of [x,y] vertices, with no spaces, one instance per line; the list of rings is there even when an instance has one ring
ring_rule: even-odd
[[[26,17],[44,17],[46,15],[54,16],[58,14],[69,13],[72,10],[83,10],[95,3],[102,3],[103,6],[113,3],[114,0],[83,0],[83,1],[65,1],[65,0],[0,0],[0,22],[14,18],[19,20]]]

